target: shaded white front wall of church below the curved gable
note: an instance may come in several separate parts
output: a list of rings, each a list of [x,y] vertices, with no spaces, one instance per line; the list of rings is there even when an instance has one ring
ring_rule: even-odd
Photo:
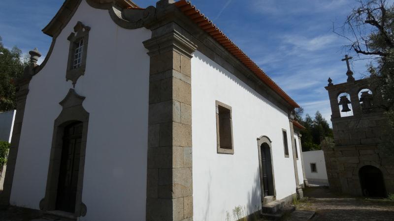
[[[87,67],[75,90],[90,113],[81,220],[145,220],[149,56],[145,28],[117,26],[107,10],[83,0],[56,40],[46,66],[30,83],[11,204],[38,209],[45,195],[54,120],[65,98],[69,41],[81,21],[90,26]],[[32,46],[33,47],[33,46]]]

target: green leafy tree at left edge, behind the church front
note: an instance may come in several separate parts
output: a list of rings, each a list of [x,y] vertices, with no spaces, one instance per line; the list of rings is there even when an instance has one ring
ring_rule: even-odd
[[[27,62],[22,61],[22,51],[17,47],[4,48],[1,37],[0,53],[0,111],[10,111],[16,108],[14,82],[23,74]]]

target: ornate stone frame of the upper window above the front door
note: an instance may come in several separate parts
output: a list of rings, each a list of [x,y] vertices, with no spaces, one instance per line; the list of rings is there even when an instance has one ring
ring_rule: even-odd
[[[83,25],[82,22],[78,22],[74,27],[74,32],[72,32],[67,37],[67,40],[70,41],[70,47],[68,50],[66,81],[72,81],[72,84],[74,86],[77,83],[78,78],[85,74],[86,56],[88,54],[89,31],[90,27]],[[79,46],[79,42],[81,39],[83,39],[82,61],[79,67],[74,68],[75,50]]]

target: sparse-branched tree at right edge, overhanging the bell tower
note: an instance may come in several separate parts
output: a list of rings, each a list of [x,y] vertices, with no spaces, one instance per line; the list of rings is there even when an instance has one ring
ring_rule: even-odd
[[[358,0],[343,26],[343,34],[350,41],[347,50],[361,59],[371,59],[368,71],[375,76],[372,84],[382,92],[383,108],[388,125],[384,128],[387,153],[394,149],[394,4],[388,0]]]

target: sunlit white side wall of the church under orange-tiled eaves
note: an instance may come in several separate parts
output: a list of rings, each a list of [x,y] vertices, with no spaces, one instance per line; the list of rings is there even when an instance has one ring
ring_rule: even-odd
[[[217,154],[215,100],[232,107],[234,155]],[[285,112],[200,52],[192,58],[193,197],[195,221],[226,220],[240,205],[261,208],[257,138],[272,140],[277,199],[296,192]],[[288,131],[285,158],[282,128]]]

